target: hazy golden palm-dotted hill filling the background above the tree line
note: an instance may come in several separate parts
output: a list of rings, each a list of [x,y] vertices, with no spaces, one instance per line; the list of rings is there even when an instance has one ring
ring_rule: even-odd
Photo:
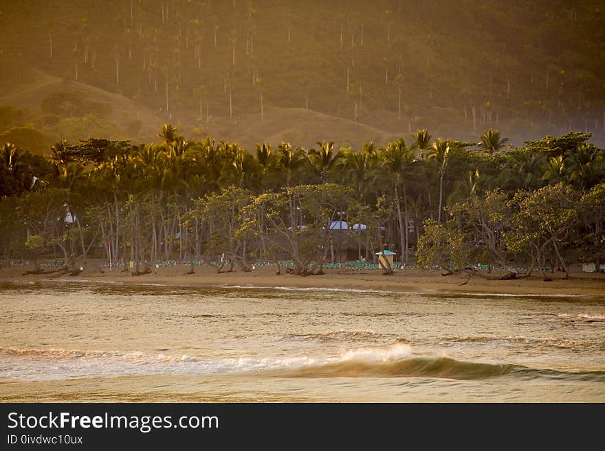
[[[0,12],[0,132],[148,139],[170,122],[298,145],[334,139],[325,124],[340,120],[337,142],[353,146],[418,128],[605,142],[599,0],[5,0]],[[47,78],[63,84],[10,97]],[[87,86],[113,97],[91,100]]]

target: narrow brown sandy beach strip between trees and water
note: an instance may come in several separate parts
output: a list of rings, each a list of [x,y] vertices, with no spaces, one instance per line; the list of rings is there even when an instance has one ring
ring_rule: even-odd
[[[0,268],[1,283],[91,283],[143,286],[258,288],[283,290],[333,290],[359,292],[399,292],[419,294],[460,294],[485,296],[536,296],[536,297],[603,297],[605,299],[605,274],[575,271],[569,279],[560,273],[548,274],[552,281],[544,281],[540,275],[525,279],[488,280],[476,275],[441,276],[439,270],[396,270],[391,276],[380,270],[353,271],[329,268],[324,275],[302,277],[276,275],[276,268],[263,266],[250,273],[234,270],[217,274],[213,267],[196,266],[195,274],[186,274],[190,266],[177,264],[153,268],[151,274],[132,276],[119,268],[109,271],[89,264],[76,276],[65,274],[53,277],[51,272],[23,275],[25,266]],[[101,272],[102,270],[102,272]],[[493,275],[498,273],[494,272]]]

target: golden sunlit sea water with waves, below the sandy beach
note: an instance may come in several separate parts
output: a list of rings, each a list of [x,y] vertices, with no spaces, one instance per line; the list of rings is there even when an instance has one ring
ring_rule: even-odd
[[[605,402],[605,296],[0,285],[4,402]]]

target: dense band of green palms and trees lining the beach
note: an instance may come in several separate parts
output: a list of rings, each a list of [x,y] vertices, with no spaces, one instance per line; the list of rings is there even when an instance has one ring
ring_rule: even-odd
[[[447,273],[484,265],[569,275],[571,263],[605,257],[605,150],[590,134],[516,148],[493,129],[474,143],[418,130],[384,148],[283,142],[254,153],[211,137],[186,141],[170,124],[158,136],[60,141],[50,157],[3,144],[3,259],[40,270],[52,251],[77,272],[94,255],[130,260],[142,274],[153,262],[194,270],[222,254],[249,270],[279,252],[308,275],[335,261],[344,238],[360,259],[388,248],[402,265]]]

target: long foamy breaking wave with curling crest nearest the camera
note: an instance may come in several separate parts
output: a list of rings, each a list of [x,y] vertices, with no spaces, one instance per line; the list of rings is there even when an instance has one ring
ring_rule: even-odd
[[[573,373],[522,365],[468,362],[446,356],[419,356],[401,341],[382,347],[349,349],[338,356],[291,358],[199,358],[149,355],[140,351],[0,348],[0,379],[65,380],[123,375],[243,373],[265,371],[275,377],[423,377],[480,380],[507,375],[520,378],[577,378],[605,382],[605,371]]]

